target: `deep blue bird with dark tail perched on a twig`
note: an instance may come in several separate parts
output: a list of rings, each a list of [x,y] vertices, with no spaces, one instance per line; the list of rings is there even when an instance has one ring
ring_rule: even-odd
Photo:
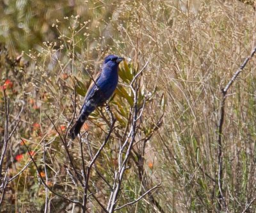
[[[84,98],[83,107],[76,123],[71,127],[69,136],[75,139],[81,127],[97,107],[102,106],[114,93],[118,84],[118,65],[124,58],[109,55],[104,59],[101,72],[93,79]]]

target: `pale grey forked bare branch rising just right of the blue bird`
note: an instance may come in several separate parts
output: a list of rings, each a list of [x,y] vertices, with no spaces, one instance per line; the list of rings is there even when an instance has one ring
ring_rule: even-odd
[[[138,104],[139,104],[138,103],[138,92],[140,90],[138,81],[139,81],[139,77],[140,77],[141,73],[147,67],[147,65],[150,61],[150,58],[151,58],[151,56],[148,58],[148,61],[147,61],[147,63],[145,63],[144,67],[141,68],[141,70],[134,76],[134,78],[132,79],[132,81],[129,85],[122,84],[123,86],[128,87],[132,91],[134,105],[132,106],[132,108],[130,110],[130,114],[129,114],[129,120],[131,120],[131,123],[127,124],[127,126],[125,127],[125,134],[123,137],[124,143],[122,145],[120,143],[120,146],[119,146],[118,170],[115,171],[113,187],[112,187],[111,194],[109,196],[108,207],[107,207],[109,213],[114,212],[115,210],[118,210],[118,209],[122,209],[123,207],[125,207],[127,205],[136,203],[137,201],[140,201],[140,199],[143,198],[143,196],[145,196],[146,194],[149,195],[151,202],[157,207],[157,209],[160,212],[163,212],[163,209],[161,208],[159,203],[157,203],[157,201],[154,200],[152,193],[151,193],[152,190],[149,189],[147,191],[147,187],[145,187],[146,192],[144,194],[142,194],[135,201],[132,201],[130,203],[122,205],[122,207],[115,208],[116,202],[118,201],[118,194],[121,191],[121,185],[122,185],[122,181],[123,181],[123,177],[124,177],[124,172],[125,172],[125,170],[127,170],[127,161],[129,159],[129,157],[134,157],[132,155],[132,148],[134,147],[134,144],[136,144],[135,136],[136,136],[138,130],[140,129],[139,124],[137,124],[137,122],[141,119],[143,111],[145,109],[146,102],[148,100],[147,98],[145,98],[143,101],[143,104],[141,104],[142,106],[138,106]],[[161,126],[162,118],[163,117],[161,116],[161,118],[159,119],[159,122],[157,122],[156,127],[154,127],[154,130],[152,132],[154,132]],[[145,149],[145,143],[148,141],[148,139],[151,138],[152,134],[150,134],[150,136],[147,136],[145,139],[143,139],[143,149]],[[126,147],[127,147],[127,150],[125,150]],[[143,169],[140,171],[143,171]],[[143,186],[144,185],[145,184],[143,184]]]

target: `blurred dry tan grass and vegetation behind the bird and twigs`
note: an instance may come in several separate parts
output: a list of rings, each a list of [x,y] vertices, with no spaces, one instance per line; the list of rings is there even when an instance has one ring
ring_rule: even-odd
[[[152,134],[145,143],[143,171],[149,188],[161,182],[153,194],[158,207],[146,196],[120,212],[221,212],[217,143],[221,88],[255,46],[252,5],[235,0],[3,0],[0,4],[0,81],[10,99],[11,123],[24,107],[6,154],[10,177],[29,161],[20,138],[33,150],[44,176],[45,143],[52,187],[70,198],[82,196],[83,189],[77,189],[68,176],[65,150],[47,115],[64,134],[74,112],[74,85],[81,106],[90,74],[97,73],[106,54],[115,53],[127,62],[122,65],[121,83],[131,83],[147,65],[140,78],[140,104],[149,99],[136,140]],[[229,91],[225,109],[223,196],[230,212],[256,210],[255,91],[252,58]],[[120,85],[110,102],[118,127],[97,162],[97,170],[109,181],[132,101],[131,92]],[[2,91],[0,104],[2,141]],[[154,129],[163,113],[163,124]],[[95,150],[108,127],[104,109],[95,111],[84,125]],[[139,150],[134,146],[134,152]],[[78,143],[72,143],[72,155],[79,168]],[[119,205],[141,194],[136,158],[129,166]],[[97,197],[106,203],[108,187],[96,172],[92,183]],[[72,210],[67,201],[54,194],[49,197],[52,211]],[[30,164],[10,182],[1,209],[12,204],[17,212],[29,205],[42,210],[44,202],[44,187]],[[93,199],[88,212],[100,212]]]

